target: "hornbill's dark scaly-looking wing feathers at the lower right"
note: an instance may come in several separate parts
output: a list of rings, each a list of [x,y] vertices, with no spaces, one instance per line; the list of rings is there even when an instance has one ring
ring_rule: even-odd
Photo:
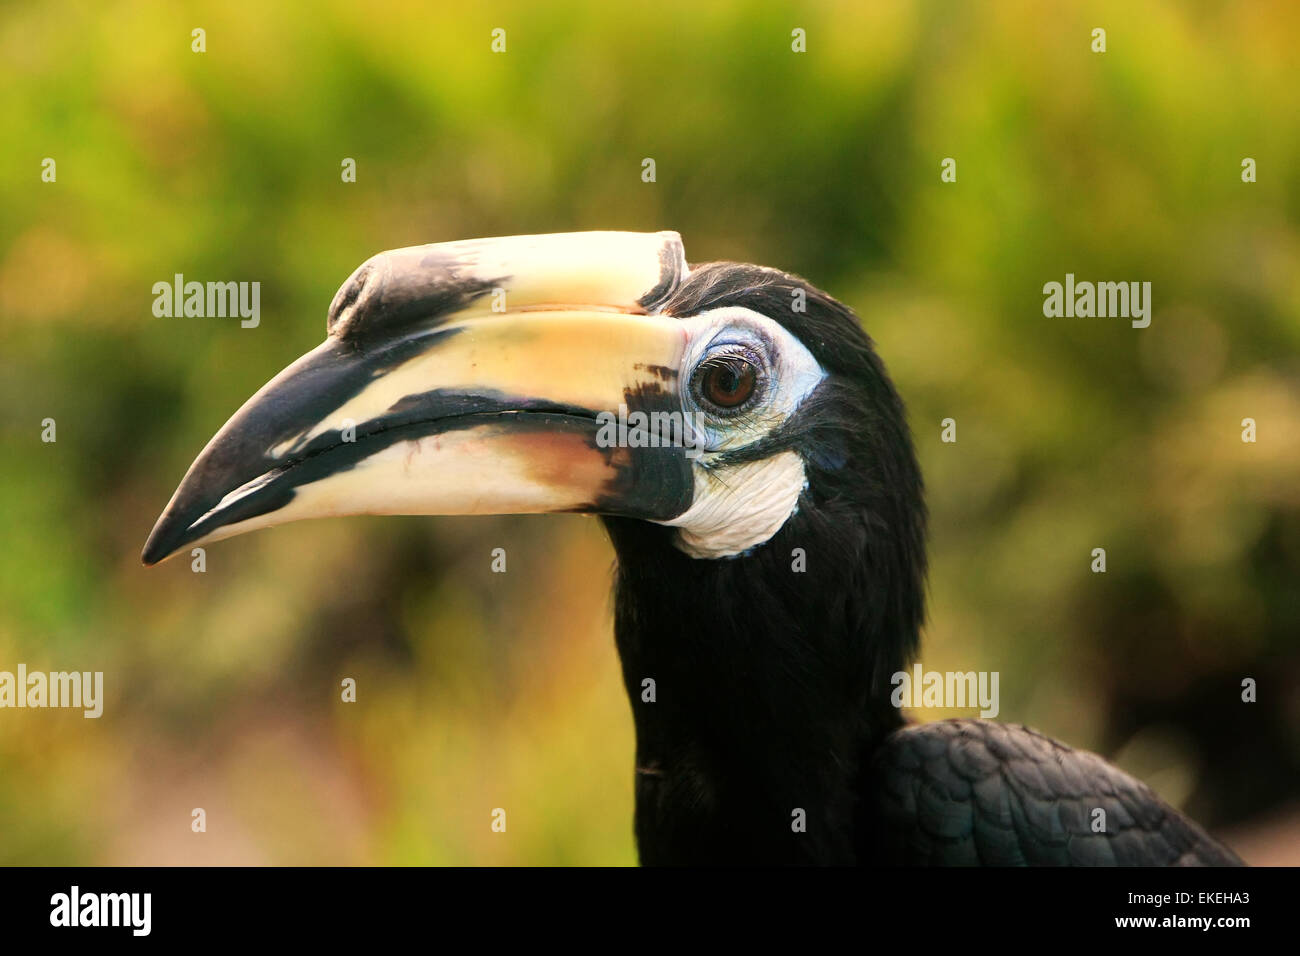
[[[1105,832],[1093,832],[1104,809]],[[992,721],[894,731],[863,788],[863,855],[913,866],[1240,866],[1140,780]]]

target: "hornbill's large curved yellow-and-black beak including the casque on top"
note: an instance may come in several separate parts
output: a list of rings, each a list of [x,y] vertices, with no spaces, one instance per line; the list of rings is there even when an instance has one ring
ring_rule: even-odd
[[[688,268],[676,233],[572,233],[381,252],[334,297],[328,338],[216,433],[144,545],[348,514],[599,512],[668,520],[689,449],[602,432],[680,411]]]

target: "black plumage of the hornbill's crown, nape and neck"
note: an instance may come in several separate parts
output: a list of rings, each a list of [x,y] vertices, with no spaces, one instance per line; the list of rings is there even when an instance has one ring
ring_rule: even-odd
[[[803,313],[789,312],[796,286]],[[697,268],[670,310],[723,304],[783,321],[828,377],[754,449],[798,451],[809,481],[764,545],[697,559],[672,528],[606,519],[641,858],[850,864],[862,756],[902,722],[889,676],[923,617],[920,473],[902,403],[852,312],[785,273],[731,264]]]

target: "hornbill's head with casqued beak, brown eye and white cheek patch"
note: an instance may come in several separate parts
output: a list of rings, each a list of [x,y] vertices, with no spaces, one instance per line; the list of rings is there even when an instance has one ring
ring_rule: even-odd
[[[889,666],[915,641],[920,480],[871,341],[794,276],[688,267],[676,233],[373,256],[324,345],[208,442],[143,559],[302,518],[523,512],[603,515],[620,564],[689,562],[699,593],[745,567],[770,592],[803,549],[826,628],[889,631]]]

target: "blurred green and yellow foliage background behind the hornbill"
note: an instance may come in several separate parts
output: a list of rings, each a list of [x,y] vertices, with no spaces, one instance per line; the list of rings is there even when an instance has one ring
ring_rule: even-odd
[[[0,669],[108,701],[0,711],[0,862],[634,861],[594,519],[138,557],[369,255],[578,229],[852,306],[928,480],[926,667],[1300,862],[1297,44],[1286,1],[5,5]],[[260,328],[155,317],[177,272],[260,281]],[[1045,319],[1066,272],[1150,281],[1150,328]]]

